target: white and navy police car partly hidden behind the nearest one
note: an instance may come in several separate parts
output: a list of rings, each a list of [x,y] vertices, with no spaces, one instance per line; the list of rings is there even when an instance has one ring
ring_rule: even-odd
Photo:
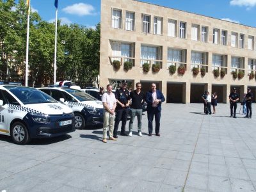
[[[75,114],[76,129],[88,125],[103,125],[103,105],[88,93],[65,87],[38,88],[56,100],[67,104]]]

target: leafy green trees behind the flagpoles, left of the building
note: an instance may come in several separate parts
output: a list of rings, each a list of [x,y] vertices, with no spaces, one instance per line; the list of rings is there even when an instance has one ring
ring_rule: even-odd
[[[53,83],[55,24],[30,14],[29,85]],[[23,0],[0,0],[0,70],[20,79],[25,74],[27,16]],[[57,40],[57,81],[92,83],[99,74],[100,24],[92,29],[58,20]]]

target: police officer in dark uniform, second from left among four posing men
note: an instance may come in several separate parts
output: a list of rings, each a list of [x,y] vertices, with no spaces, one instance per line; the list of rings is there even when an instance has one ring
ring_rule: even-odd
[[[121,126],[121,133],[122,136],[128,136],[128,134],[125,132],[125,125],[128,115],[128,108],[130,105],[130,95],[129,91],[127,90],[127,81],[122,81],[122,88],[119,90],[116,90],[115,92],[116,96],[116,120],[115,120],[115,126],[114,126],[114,138],[118,138],[117,131],[118,131],[118,125],[122,118],[122,126]]]

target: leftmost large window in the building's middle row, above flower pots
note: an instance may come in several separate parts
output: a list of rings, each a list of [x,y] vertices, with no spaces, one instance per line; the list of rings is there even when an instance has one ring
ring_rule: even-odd
[[[115,42],[111,43],[112,56],[124,57],[124,58],[134,58],[134,44],[133,43],[123,43]],[[116,59],[115,59],[116,60]]]

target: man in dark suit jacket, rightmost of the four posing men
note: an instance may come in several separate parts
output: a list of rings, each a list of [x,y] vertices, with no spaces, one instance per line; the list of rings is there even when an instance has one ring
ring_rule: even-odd
[[[148,113],[148,136],[152,136],[153,119],[156,121],[156,136],[160,136],[160,118],[161,118],[161,104],[164,102],[164,95],[156,89],[156,84],[151,84],[151,90],[146,94],[147,113]]]

